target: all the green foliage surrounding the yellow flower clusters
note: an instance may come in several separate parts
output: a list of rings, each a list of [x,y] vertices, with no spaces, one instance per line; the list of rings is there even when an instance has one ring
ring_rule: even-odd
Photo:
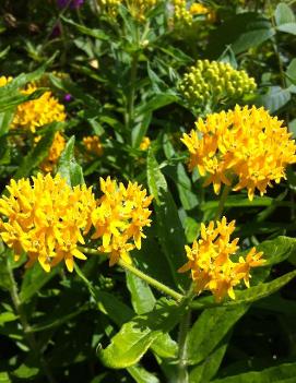
[[[256,193],[249,201],[246,190],[230,191],[222,206],[227,220],[236,220],[233,238],[239,237],[240,250],[233,261],[242,262],[239,258],[252,247],[263,252],[265,262],[251,270],[249,288],[242,280],[234,288],[235,299],[226,295],[215,301],[209,291],[198,296],[191,272],[178,270],[188,262],[185,246],[200,239],[201,224],[215,219],[221,207],[220,196],[203,187],[205,178],[197,169],[188,171],[181,134],[194,129],[197,118],[239,101],[276,115],[295,137],[295,3],[197,1],[208,11],[191,17],[194,1],[187,1],[187,19],[177,20],[171,1],[151,8],[134,2],[135,9],[126,0],[115,8],[96,0],[66,7],[58,0],[1,4],[0,84],[1,75],[12,76],[0,86],[2,199],[11,179],[43,172],[54,152],[54,173],[71,187],[92,187],[97,201],[99,178],[110,177],[125,185],[143,185],[153,203],[151,226],[143,229],[141,249],[130,252],[131,264],[121,260],[109,267],[93,227],[79,228],[85,243],[78,247],[87,260],[75,259],[73,273],[62,262],[50,273],[38,262],[27,267],[27,254],[21,251],[14,261],[0,237],[0,382],[292,383],[295,164],[286,169],[287,179],[269,187],[264,196]],[[180,84],[199,60],[229,63],[237,73],[254,77],[257,88],[241,92],[239,100],[225,97],[227,73],[216,79],[210,71],[202,88],[199,79],[189,79],[187,91],[202,103],[188,103]],[[205,93],[211,81],[222,87],[221,96]],[[26,95],[22,91],[29,84],[37,89]],[[40,122],[34,133],[15,127],[17,107],[45,92],[62,105],[66,120]],[[51,111],[46,104],[39,110],[28,105],[32,120],[34,112]],[[55,146],[57,132],[62,132],[64,147]],[[87,146],[87,137],[99,144]],[[29,229],[24,195],[14,203]],[[126,201],[123,207],[129,208]],[[1,203],[0,211],[1,228]],[[110,220],[121,218],[107,213]],[[42,214],[37,219],[46,219]],[[102,220],[104,225],[108,223]],[[72,229],[74,235],[78,228]],[[118,223],[109,229],[121,230]],[[17,241],[17,227],[13,230]]]

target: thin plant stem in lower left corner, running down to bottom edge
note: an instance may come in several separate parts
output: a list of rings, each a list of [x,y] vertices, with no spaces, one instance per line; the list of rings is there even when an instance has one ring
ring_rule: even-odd
[[[56,380],[49,369],[49,366],[47,364],[44,356],[42,355],[38,344],[36,342],[35,335],[33,333],[31,333],[31,326],[28,324],[27,318],[26,318],[26,313],[23,309],[20,296],[19,296],[19,291],[17,291],[17,284],[14,279],[14,275],[13,275],[13,271],[11,268],[11,264],[10,261],[8,260],[7,262],[7,270],[8,270],[8,275],[10,278],[10,296],[11,296],[11,300],[13,302],[14,306],[14,310],[17,313],[19,318],[20,318],[20,322],[22,324],[22,327],[24,330],[24,335],[25,338],[27,340],[27,344],[29,345],[31,349],[33,350],[33,352],[35,354],[36,360],[39,361],[40,367],[48,380],[49,383],[56,383]]]

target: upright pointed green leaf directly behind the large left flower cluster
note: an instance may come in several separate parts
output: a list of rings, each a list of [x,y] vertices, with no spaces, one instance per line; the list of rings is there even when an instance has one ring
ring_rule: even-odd
[[[74,157],[74,147],[75,136],[72,135],[60,156],[57,168],[57,173],[60,173],[72,187],[84,183],[82,168]]]

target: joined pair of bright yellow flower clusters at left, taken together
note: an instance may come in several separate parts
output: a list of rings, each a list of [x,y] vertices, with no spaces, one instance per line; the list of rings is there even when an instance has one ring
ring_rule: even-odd
[[[71,188],[59,175],[38,173],[32,183],[29,179],[11,180],[10,195],[0,199],[0,235],[15,261],[25,252],[27,266],[38,261],[49,272],[64,261],[72,272],[74,258],[86,259],[80,246],[91,231],[94,239],[100,239],[99,251],[110,254],[110,264],[119,258],[129,260],[128,252],[141,248],[143,227],[150,225],[151,198],[137,183],[125,188],[109,178],[100,179],[99,200],[92,188]]]

